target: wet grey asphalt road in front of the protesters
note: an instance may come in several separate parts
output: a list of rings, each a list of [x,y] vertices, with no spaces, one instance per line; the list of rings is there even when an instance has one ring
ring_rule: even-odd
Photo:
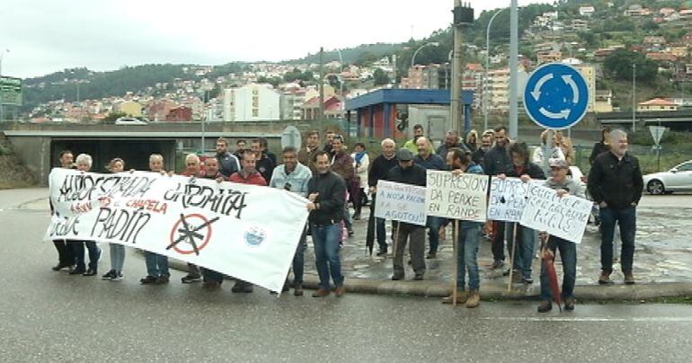
[[[536,313],[536,302],[471,310],[438,299],[238,296],[140,286],[144,261],[129,252],[125,279],[49,269],[40,243],[45,211],[17,208],[36,191],[0,190],[0,361],[688,361],[690,305],[577,305]],[[107,250],[107,249],[105,249]],[[108,267],[108,253],[101,261]]]

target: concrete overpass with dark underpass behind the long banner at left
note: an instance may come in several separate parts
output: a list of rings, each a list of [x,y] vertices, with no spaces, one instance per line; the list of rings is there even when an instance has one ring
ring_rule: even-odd
[[[58,154],[64,149],[77,154],[93,156],[93,171],[104,172],[113,157],[125,160],[126,168],[146,170],[148,155],[164,155],[167,170],[173,170],[176,157],[182,152],[199,152],[201,146],[200,123],[151,123],[148,125],[102,124],[0,124],[5,137],[13,146],[14,153],[41,184],[48,183],[50,169],[58,165]],[[230,149],[239,138],[267,137],[270,149],[280,148],[281,132],[288,125],[301,131],[323,129],[326,125],[313,121],[266,121],[207,123],[205,125],[205,150],[213,152],[217,137],[226,137]]]

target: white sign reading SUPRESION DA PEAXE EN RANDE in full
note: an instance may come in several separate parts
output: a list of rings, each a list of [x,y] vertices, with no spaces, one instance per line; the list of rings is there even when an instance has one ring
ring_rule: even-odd
[[[489,178],[428,170],[425,209],[429,216],[485,222]]]

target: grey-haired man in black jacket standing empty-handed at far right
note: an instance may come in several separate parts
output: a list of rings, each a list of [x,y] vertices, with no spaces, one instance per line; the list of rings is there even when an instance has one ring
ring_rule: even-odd
[[[600,266],[599,284],[611,284],[613,272],[613,233],[616,221],[620,224],[622,251],[620,264],[625,284],[634,284],[634,232],[636,205],[642,199],[643,180],[639,161],[627,153],[627,134],[621,129],[610,132],[610,151],[596,157],[589,173],[589,192],[600,207]]]

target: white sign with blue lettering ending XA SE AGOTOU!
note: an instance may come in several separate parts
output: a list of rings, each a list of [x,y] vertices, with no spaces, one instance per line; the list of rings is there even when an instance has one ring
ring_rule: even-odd
[[[425,226],[425,187],[377,181],[375,217]]]

